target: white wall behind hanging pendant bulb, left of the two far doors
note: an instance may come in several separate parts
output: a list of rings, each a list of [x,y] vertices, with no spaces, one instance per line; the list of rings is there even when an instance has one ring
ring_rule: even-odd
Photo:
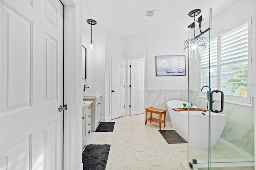
[[[82,42],[87,49],[87,75],[82,86],[99,90],[102,95],[101,121],[110,120],[110,55],[126,57],[126,40],[105,31],[93,31],[93,49],[90,49],[90,30],[83,30]]]

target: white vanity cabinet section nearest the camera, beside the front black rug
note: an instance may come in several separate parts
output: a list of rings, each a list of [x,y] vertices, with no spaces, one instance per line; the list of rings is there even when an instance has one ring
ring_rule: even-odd
[[[86,145],[88,132],[91,131],[92,101],[83,101],[82,105],[82,148]]]

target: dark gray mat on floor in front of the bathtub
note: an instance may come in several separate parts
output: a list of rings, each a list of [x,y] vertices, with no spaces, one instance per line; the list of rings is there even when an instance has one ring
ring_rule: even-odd
[[[167,143],[188,143],[175,130],[158,130]]]

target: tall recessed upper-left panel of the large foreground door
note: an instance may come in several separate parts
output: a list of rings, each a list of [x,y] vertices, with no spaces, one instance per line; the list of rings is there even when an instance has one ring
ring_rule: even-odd
[[[1,63],[6,63],[1,64],[1,77],[6,80],[1,82],[2,115],[32,106],[32,22],[4,3],[1,4],[1,16],[1,25],[4,24],[1,28],[1,50],[4,53]],[[22,31],[17,31],[17,26]]]

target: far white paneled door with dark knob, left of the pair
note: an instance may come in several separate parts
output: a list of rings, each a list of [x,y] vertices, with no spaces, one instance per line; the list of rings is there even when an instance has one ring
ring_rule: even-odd
[[[125,115],[125,59],[111,57],[111,119]]]

